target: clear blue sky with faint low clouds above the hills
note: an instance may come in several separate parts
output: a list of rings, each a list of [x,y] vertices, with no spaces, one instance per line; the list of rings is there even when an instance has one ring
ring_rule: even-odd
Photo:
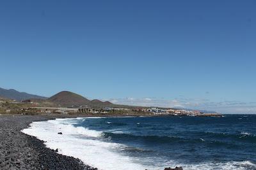
[[[256,113],[256,1],[0,1],[0,87]]]

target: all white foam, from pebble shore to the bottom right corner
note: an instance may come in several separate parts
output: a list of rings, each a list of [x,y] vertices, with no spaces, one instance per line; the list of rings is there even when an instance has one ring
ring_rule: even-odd
[[[44,140],[48,148],[56,150],[59,153],[81,159],[85,164],[97,167],[103,170],[144,170],[144,169],[164,169],[164,167],[182,166],[186,169],[250,169],[256,165],[246,160],[243,162],[204,162],[202,164],[181,164],[170,160],[164,164],[159,164],[158,158],[151,160],[147,158],[136,158],[123,155],[116,150],[122,150],[127,147],[118,143],[111,143],[102,139],[100,131],[84,127],[75,127],[76,118],[48,120],[46,122],[33,122],[31,127],[23,129],[22,132]],[[114,133],[120,133],[118,129]],[[58,134],[62,132],[63,134]],[[144,161],[144,162],[143,162]],[[146,163],[145,163],[146,162]],[[148,163],[148,164],[147,164]]]

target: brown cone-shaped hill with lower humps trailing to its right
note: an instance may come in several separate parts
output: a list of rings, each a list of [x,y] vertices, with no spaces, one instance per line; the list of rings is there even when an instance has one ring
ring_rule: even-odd
[[[47,102],[54,103],[58,106],[68,107],[68,106],[94,106],[94,107],[111,107],[115,104],[109,101],[102,102],[97,99],[90,101],[85,97],[75,94],[73,92],[62,91],[58,94],[47,99]]]

